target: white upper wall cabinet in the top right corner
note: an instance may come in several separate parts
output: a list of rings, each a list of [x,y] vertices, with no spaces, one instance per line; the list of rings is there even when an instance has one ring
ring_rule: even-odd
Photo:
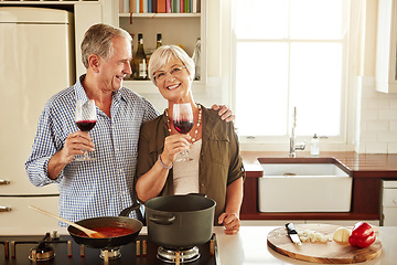
[[[397,93],[397,4],[395,0],[378,0],[376,89]]]

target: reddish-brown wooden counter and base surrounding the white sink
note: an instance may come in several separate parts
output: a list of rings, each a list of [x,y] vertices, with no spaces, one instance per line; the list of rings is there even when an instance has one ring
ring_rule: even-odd
[[[380,180],[397,180],[397,153],[320,152],[311,157],[298,151],[299,162],[308,158],[332,158],[353,178],[351,211],[346,213],[261,213],[258,211],[258,178],[264,170],[258,158],[288,158],[286,152],[243,151],[246,181],[242,220],[380,220]]]

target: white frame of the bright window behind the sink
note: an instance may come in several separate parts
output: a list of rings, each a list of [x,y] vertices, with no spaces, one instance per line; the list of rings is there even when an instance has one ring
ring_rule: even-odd
[[[234,34],[235,25],[235,1],[230,1],[230,6],[228,9],[229,12],[229,57],[230,57],[230,92],[229,97],[232,102],[232,109],[237,115],[238,118],[238,109],[236,108],[236,46],[238,41],[253,41],[253,42],[261,42],[261,39],[240,39],[237,40],[236,35]],[[347,19],[344,23],[346,24],[346,33],[342,39],[343,45],[343,66],[342,66],[342,92],[341,92],[341,117],[340,117],[340,134],[337,136],[321,136],[321,150],[329,150],[329,151],[352,151],[354,150],[354,131],[356,128],[355,124],[355,92],[350,87],[356,86],[356,78],[353,77],[351,73],[353,73],[354,63],[357,61],[357,54],[352,53],[350,51],[354,51],[357,49],[355,45],[358,45],[357,38],[352,35],[352,26],[358,26],[360,21],[358,19],[352,21],[352,18],[360,18],[358,10],[354,11],[357,6],[354,1],[346,1],[345,10],[346,14],[344,18]],[[227,10],[227,9],[226,9]],[[352,23],[353,22],[353,23]],[[353,33],[357,33],[354,31]],[[279,40],[271,40],[271,41],[279,41]],[[299,40],[292,40],[292,42],[298,42]],[[308,42],[308,40],[303,40]],[[290,41],[288,41],[290,42]],[[353,60],[353,61],[352,61]],[[289,99],[288,99],[289,100]],[[292,110],[293,107],[289,106],[289,115],[287,118],[288,123],[288,132],[282,136],[242,136],[239,135],[239,142],[242,150],[271,150],[271,151],[286,151],[289,150],[289,137],[292,127]],[[299,113],[299,109],[298,109]],[[299,123],[299,120],[298,120]],[[238,134],[238,128],[237,128]],[[310,144],[312,135],[297,135],[297,142],[307,141],[307,145]],[[305,150],[310,148],[307,146]]]

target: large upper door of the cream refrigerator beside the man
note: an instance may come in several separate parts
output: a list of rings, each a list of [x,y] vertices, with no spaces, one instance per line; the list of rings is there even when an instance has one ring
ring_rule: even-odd
[[[41,18],[37,10],[32,12]],[[9,12],[19,18],[21,11]],[[68,17],[66,11],[61,12]],[[33,187],[24,162],[30,156],[45,103],[74,83],[71,29],[72,25],[62,20],[53,23],[2,20],[0,23],[0,36],[3,36],[0,38],[0,97],[3,98],[0,104],[0,179],[10,181],[0,186],[0,194],[57,193],[56,186]]]

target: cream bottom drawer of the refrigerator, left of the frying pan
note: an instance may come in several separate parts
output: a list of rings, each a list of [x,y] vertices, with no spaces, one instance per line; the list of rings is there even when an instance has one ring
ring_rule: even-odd
[[[28,205],[35,205],[54,214],[58,214],[58,197],[0,197],[0,206],[8,206],[11,211],[0,212],[1,231],[29,229],[52,231],[58,221],[43,215]]]

